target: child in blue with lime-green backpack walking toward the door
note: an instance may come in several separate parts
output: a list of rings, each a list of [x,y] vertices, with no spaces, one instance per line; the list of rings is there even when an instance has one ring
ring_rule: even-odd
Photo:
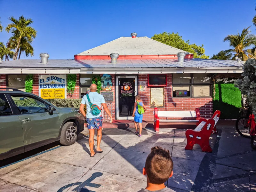
[[[145,113],[147,108],[140,100],[140,95],[135,96],[135,101],[136,102],[134,103],[134,109],[133,109],[132,116],[134,117],[134,125],[136,128],[136,134],[139,134],[139,137],[141,137],[143,113]],[[139,124],[139,128],[140,128],[140,132],[138,132],[138,124]]]

